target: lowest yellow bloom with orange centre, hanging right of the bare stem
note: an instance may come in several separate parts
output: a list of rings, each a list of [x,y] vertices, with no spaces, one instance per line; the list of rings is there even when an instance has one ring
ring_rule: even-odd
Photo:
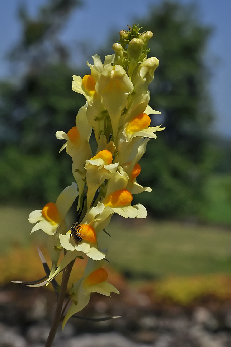
[[[104,260],[88,260],[83,277],[70,289],[72,305],[65,315],[62,329],[73,314],[81,311],[89,303],[91,293],[106,296],[111,296],[112,292],[119,294],[119,291],[106,281],[107,272],[102,268],[103,263]]]

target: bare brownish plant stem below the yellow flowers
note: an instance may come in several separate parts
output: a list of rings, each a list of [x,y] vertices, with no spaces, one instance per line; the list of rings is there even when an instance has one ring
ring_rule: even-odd
[[[72,260],[72,262],[70,264],[68,264],[66,266],[66,268],[63,270],[63,278],[62,278],[62,283],[61,283],[61,287],[60,287],[60,291],[59,291],[58,302],[57,302],[57,306],[56,306],[56,310],[55,310],[55,316],[54,316],[53,323],[51,325],[51,329],[50,329],[49,336],[47,338],[47,342],[46,342],[45,347],[51,347],[51,345],[54,341],[58,326],[60,324],[63,301],[65,298],[67,283],[68,283],[68,280],[70,277],[72,266],[74,265],[74,261],[75,261],[75,259]]]

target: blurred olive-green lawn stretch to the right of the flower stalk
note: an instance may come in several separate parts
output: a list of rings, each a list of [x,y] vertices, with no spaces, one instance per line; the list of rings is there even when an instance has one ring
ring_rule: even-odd
[[[131,278],[180,274],[230,273],[231,232],[177,222],[125,221],[99,235],[107,259]],[[148,276],[147,276],[148,277]]]

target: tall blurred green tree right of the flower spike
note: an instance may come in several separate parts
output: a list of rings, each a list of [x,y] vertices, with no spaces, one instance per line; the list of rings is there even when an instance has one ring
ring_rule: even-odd
[[[172,1],[153,8],[140,23],[153,32],[151,56],[160,61],[150,85],[150,106],[162,115],[153,115],[152,125],[166,127],[149,142],[141,160],[141,184],[153,189],[142,193],[142,200],[153,217],[193,216],[205,203],[203,187],[216,158],[209,139],[205,61],[212,30],[199,23],[194,6]]]

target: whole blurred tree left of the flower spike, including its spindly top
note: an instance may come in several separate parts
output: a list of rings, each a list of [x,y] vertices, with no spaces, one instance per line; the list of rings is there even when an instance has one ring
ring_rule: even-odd
[[[58,155],[61,144],[55,132],[74,126],[85,100],[71,90],[73,70],[58,34],[79,5],[79,0],[49,0],[33,19],[25,8],[19,10],[22,40],[9,58],[23,71],[22,77],[0,85],[4,202],[55,201],[73,180],[69,156]]]

